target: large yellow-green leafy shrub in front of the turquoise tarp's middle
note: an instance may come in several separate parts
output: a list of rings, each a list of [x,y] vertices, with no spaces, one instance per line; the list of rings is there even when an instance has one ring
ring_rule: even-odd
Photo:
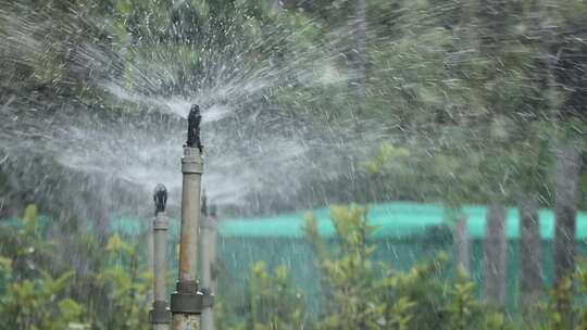
[[[441,280],[445,253],[407,271],[375,264],[369,243],[375,228],[367,210],[332,207],[335,243],[319,234],[314,217],[304,231],[322,270],[329,302],[320,329],[509,329],[502,313],[489,309],[474,296],[475,285],[464,272],[453,281]]]

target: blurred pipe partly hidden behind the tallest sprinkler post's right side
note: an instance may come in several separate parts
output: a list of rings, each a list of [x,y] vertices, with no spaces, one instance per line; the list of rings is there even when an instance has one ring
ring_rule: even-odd
[[[202,223],[200,224],[201,249],[202,249],[202,292],[213,297],[216,290],[216,207],[207,205],[205,193],[202,198]],[[202,329],[214,330],[214,314],[212,305],[202,310]]]

